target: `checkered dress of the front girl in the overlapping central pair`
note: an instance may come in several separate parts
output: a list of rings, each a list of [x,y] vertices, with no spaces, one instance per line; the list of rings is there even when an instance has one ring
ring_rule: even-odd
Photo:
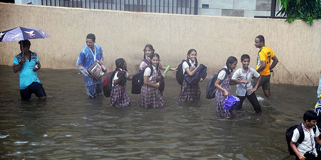
[[[154,69],[153,74],[151,76],[152,80],[148,82],[156,84],[157,77],[158,77],[158,71]],[[158,91],[157,93],[156,93],[156,90]],[[165,102],[158,88],[150,87],[144,84],[141,90],[139,104],[145,108],[147,107],[160,108],[165,104]]]

